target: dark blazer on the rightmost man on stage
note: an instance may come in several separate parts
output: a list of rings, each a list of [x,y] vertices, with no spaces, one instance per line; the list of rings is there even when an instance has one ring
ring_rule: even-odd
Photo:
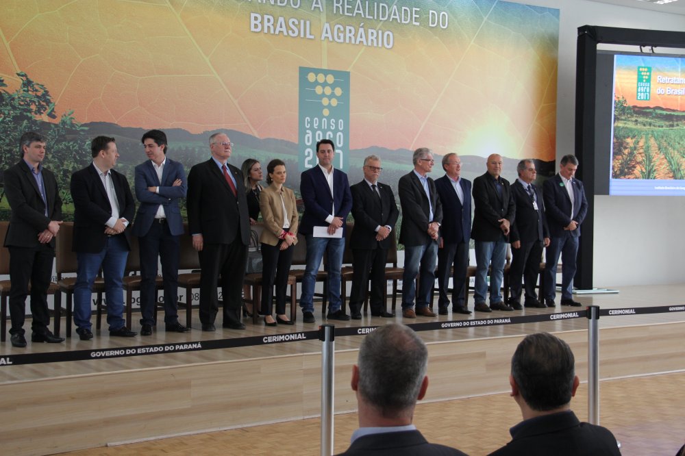
[[[585,199],[583,183],[578,179],[573,182],[573,220],[578,224],[577,229],[569,231],[571,236],[580,236],[580,225],[588,214],[588,200]],[[549,225],[549,234],[557,238],[564,234],[564,227],[571,223],[571,199],[564,187],[560,175],[550,177],[543,183],[543,198],[545,199],[545,216]]]

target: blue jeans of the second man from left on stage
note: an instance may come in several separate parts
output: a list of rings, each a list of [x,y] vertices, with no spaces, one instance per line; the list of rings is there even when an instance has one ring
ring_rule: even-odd
[[[107,299],[107,322],[110,331],[126,325],[122,318],[124,292],[121,279],[128,257],[128,244],[123,234],[110,236],[105,248],[99,253],[77,252],[78,266],[74,283],[74,324],[77,328],[90,329],[92,285],[102,267],[105,279],[105,299]]]

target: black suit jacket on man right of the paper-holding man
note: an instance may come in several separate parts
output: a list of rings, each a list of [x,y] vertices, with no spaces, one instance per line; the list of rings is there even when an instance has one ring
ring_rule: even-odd
[[[352,215],[354,229],[349,240],[351,249],[390,249],[392,236],[382,241],[376,240],[376,227],[388,225],[395,229],[399,210],[395,203],[393,189],[384,183],[376,183],[381,201],[373,194],[373,190],[365,180],[351,186]]]

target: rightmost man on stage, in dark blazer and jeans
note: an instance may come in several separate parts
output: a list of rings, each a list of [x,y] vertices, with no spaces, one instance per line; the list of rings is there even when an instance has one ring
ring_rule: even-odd
[[[554,307],[556,296],[557,263],[561,255],[561,304],[580,307],[573,301],[580,224],[588,213],[583,183],[575,179],[578,159],[574,155],[562,157],[559,173],[543,183],[545,216],[549,225],[549,246],[545,255],[545,304]]]

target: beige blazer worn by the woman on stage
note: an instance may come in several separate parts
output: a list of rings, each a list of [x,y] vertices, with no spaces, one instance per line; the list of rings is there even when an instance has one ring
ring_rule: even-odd
[[[259,207],[260,212],[262,212],[262,218],[264,219],[264,229],[262,230],[262,235],[260,236],[260,242],[264,244],[276,245],[278,244],[278,236],[283,232],[283,205],[285,203],[286,212],[288,212],[288,217],[290,218],[290,228],[288,231],[290,233],[297,234],[297,225],[299,223],[299,214],[297,214],[297,203],[295,203],[295,193],[286,188],[282,187],[283,190],[283,203],[281,202],[281,196],[278,194],[273,183],[264,188],[259,196]],[[297,236],[295,237],[295,244],[297,244]]]

